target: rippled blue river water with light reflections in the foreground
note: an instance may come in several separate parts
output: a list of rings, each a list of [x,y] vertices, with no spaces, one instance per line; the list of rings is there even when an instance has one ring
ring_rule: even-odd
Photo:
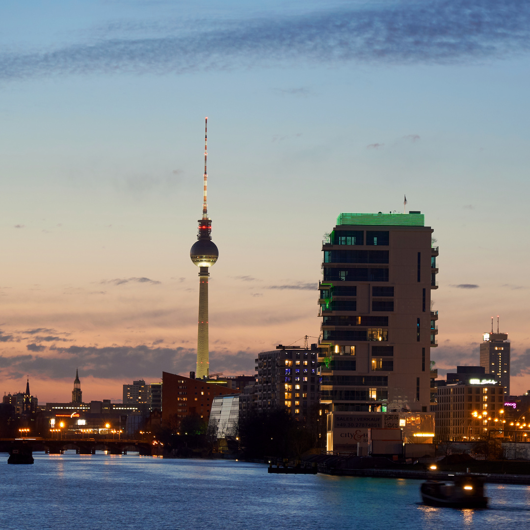
[[[530,486],[487,484],[490,509],[431,508],[420,481],[269,475],[260,464],[138,455],[0,454],[2,530],[495,529],[530,524]]]

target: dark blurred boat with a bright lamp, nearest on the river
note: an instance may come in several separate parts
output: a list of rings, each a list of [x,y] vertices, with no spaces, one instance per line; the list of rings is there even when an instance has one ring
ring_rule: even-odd
[[[448,508],[487,508],[484,479],[475,475],[456,475],[452,481],[430,479],[421,484],[421,498],[429,506]]]

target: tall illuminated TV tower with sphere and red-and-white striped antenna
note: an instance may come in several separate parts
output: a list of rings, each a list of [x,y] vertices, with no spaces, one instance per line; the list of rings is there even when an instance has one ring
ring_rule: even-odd
[[[215,264],[219,257],[216,244],[211,241],[211,219],[208,218],[206,204],[206,190],[208,174],[206,172],[208,118],[205,118],[204,130],[204,200],[202,201],[202,218],[199,219],[197,242],[191,247],[190,258],[199,267],[199,328],[197,333],[197,379],[208,377],[209,348],[208,348],[208,269]]]

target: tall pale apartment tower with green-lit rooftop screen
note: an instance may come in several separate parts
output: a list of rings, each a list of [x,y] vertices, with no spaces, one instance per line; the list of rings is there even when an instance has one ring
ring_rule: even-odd
[[[420,212],[340,214],[324,241],[321,403],[330,412],[427,412],[438,248]]]

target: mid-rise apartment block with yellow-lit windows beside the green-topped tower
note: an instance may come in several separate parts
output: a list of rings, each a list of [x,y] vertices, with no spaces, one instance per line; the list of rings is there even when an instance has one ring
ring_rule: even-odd
[[[256,359],[259,412],[285,409],[295,419],[305,421],[311,407],[319,403],[317,348],[278,345],[262,351]]]

